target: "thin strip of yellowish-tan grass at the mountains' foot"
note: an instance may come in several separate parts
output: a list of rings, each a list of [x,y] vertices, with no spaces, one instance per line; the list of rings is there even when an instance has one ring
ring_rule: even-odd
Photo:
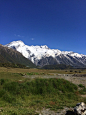
[[[0,67],[0,72],[11,73],[38,73],[38,74],[86,74],[86,69],[69,69],[69,70],[45,70],[45,69],[21,69],[21,68],[5,68]]]

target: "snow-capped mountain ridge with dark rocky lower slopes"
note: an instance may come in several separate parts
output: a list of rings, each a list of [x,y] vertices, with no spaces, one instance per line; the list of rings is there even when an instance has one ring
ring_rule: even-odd
[[[33,63],[39,66],[66,64],[76,67],[86,66],[86,55],[74,53],[72,51],[60,51],[58,49],[50,49],[48,46],[28,46],[21,40],[13,41],[7,45],[13,48]]]

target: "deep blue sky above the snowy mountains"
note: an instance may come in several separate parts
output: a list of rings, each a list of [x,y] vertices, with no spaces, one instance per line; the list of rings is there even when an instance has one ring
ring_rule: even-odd
[[[17,40],[86,55],[86,0],[0,0],[0,44]]]

